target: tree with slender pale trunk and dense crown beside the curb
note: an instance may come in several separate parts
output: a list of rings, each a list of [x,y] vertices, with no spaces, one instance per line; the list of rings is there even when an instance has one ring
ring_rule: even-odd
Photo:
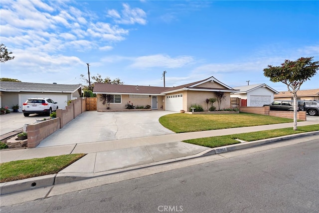
[[[301,57],[296,61],[285,60],[281,66],[268,65],[264,75],[272,82],[282,82],[287,85],[288,91],[294,96],[294,130],[297,130],[297,91],[300,86],[317,74],[319,61],[314,57]]]

